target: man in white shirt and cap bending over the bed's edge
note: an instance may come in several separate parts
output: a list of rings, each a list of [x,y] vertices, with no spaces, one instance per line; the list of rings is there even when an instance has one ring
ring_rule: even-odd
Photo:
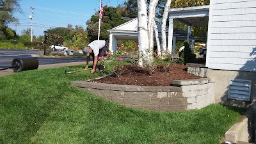
[[[108,42],[105,40],[94,40],[87,47],[84,47],[83,52],[86,54],[86,67],[88,68],[90,62],[90,54],[92,54],[93,67],[91,70],[91,74],[93,74],[96,70],[96,66],[98,63],[98,58],[101,56],[106,56],[106,52],[108,51]],[[100,72],[104,72],[104,65],[99,66]]]

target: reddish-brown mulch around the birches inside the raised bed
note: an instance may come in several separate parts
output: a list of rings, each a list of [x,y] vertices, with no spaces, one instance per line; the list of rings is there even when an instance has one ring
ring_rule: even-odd
[[[157,68],[159,69],[159,68]],[[170,70],[167,72],[160,72],[154,70],[153,74],[148,74],[144,68],[127,66],[122,76],[106,76],[101,79],[96,79],[97,83],[109,84],[126,84],[126,85],[140,85],[140,86],[170,86],[173,80],[180,79],[200,79],[202,77],[188,74],[186,65],[172,64]],[[163,70],[161,70],[163,71]]]

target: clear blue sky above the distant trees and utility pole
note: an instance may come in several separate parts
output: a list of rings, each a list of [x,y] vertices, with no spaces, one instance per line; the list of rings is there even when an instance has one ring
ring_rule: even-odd
[[[125,0],[102,0],[102,5],[114,6],[123,4]],[[31,7],[33,7],[33,35],[44,35],[49,28],[65,27],[68,24],[83,26],[86,29],[86,21],[99,11],[100,0],[20,0],[23,14],[14,13],[19,19],[19,25],[8,26],[16,31],[18,35],[25,29],[31,28]],[[104,13],[103,13],[104,15]]]

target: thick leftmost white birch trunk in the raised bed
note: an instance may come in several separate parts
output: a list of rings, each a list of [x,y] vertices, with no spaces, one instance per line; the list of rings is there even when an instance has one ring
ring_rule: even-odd
[[[138,46],[139,46],[139,63],[148,63],[148,26],[147,26],[147,1],[138,0]]]

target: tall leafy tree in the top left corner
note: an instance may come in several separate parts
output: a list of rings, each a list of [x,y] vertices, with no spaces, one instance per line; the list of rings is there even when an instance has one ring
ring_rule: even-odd
[[[8,28],[8,24],[10,24],[11,22],[15,22],[16,24],[19,23],[19,20],[13,17],[13,13],[15,12],[22,13],[19,5],[19,0],[0,1],[0,40],[6,39],[4,31],[6,31],[6,28]]]

